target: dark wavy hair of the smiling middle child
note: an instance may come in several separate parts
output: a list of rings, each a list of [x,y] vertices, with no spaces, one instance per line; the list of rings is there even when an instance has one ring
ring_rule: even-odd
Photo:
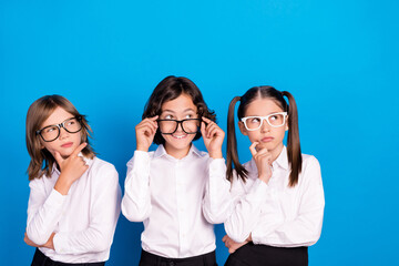
[[[216,122],[215,112],[207,108],[200,89],[194,84],[194,82],[187,78],[174,75],[166,76],[155,86],[144,106],[142,119],[161,115],[162,105],[167,101],[175,100],[182,94],[191,96],[194,105],[197,108],[197,114],[200,116],[205,116]],[[197,132],[193,141],[196,141],[200,137],[201,132]],[[165,140],[163,139],[160,129],[156,131],[153,142],[157,145],[165,144]]]

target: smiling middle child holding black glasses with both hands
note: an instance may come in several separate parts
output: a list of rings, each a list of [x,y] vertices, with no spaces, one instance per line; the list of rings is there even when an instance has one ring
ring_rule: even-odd
[[[141,266],[216,265],[212,224],[225,221],[229,182],[215,116],[186,78],[165,78],[146,103],[122,198],[123,215],[144,222]],[[201,136],[208,153],[192,143]]]

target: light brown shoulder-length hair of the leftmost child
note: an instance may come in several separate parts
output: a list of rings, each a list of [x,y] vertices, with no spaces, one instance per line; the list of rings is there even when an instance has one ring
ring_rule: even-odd
[[[93,158],[95,153],[90,146],[89,136],[92,133],[91,127],[84,115],[80,114],[73,104],[61,95],[45,95],[34,101],[27,114],[27,149],[31,157],[28,166],[28,176],[32,181],[40,178],[43,175],[50,177],[53,171],[55,158],[47,150],[42,149],[40,143],[40,135],[37,131],[43,125],[43,122],[54,112],[57,108],[62,108],[64,111],[71,113],[73,116],[81,116],[81,143],[86,142],[88,145],[82,150],[82,154],[86,157]]]

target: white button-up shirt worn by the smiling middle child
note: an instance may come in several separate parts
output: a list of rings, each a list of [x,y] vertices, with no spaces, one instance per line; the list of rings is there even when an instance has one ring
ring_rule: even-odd
[[[213,252],[212,224],[229,212],[229,182],[223,158],[211,158],[194,144],[177,160],[163,145],[155,152],[135,151],[127,163],[122,213],[144,222],[144,250],[170,258]]]

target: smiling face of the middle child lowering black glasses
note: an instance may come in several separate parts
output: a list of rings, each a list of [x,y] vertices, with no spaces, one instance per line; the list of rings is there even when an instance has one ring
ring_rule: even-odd
[[[162,104],[160,120],[185,120],[197,119],[197,108],[187,94],[181,94],[178,98]],[[187,130],[186,130],[187,131]],[[162,134],[165,139],[165,150],[167,154],[181,158],[187,155],[191,143],[195,134],[187,134],[183,131],[182,124],[173,134]]]

